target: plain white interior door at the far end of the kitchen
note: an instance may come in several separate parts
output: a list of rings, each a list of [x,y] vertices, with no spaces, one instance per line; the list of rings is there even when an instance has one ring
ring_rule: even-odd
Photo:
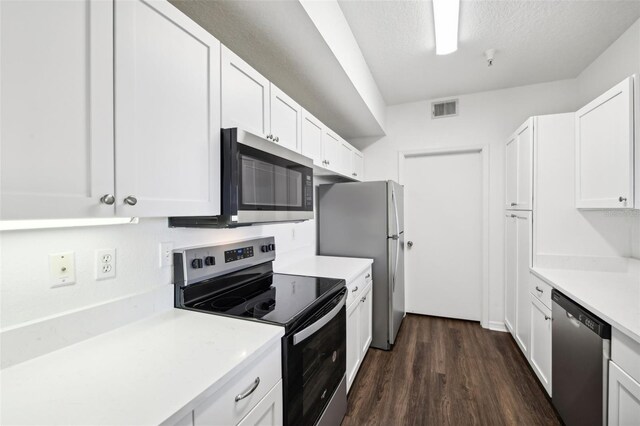
[[[407,311],[479,321],[481,153],[409,157],[403,173]]]

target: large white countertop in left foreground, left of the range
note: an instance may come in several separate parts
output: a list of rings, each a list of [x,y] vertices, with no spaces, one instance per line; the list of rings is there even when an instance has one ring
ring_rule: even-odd
[[[2,424],[180,420],[284,329],[172,309],[0,371]]]

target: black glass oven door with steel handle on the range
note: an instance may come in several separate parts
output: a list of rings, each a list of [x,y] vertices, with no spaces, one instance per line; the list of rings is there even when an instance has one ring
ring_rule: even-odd
[[[283,339],[286,425],[316,424],[344,378],[345,300],[343,289]]]

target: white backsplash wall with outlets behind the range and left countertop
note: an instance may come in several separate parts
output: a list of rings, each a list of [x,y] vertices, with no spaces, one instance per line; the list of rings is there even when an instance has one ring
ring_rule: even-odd
[[[276,238],[276,262],[315,254],[315,221],[210,230],[169,228],[166,218],[157,218],[132,225],[3,232],[1,329],[140,293],[157,294],[172,282],[172,268],[159,266],[161,242],[179,248],[264,235]],[[104,248],[116,249],[116,277],[96,281],[95,251]],[[51,288],[48,255],[68,251],[75,253],[76,283]]]

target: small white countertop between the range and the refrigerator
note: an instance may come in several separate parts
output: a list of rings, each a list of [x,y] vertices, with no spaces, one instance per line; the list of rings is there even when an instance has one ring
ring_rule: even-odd
[[[312,256],[290,265],[278,267],[281,274],[342,278],[346,282],[358,277],[373,263],[373,259],[356,257]]]

